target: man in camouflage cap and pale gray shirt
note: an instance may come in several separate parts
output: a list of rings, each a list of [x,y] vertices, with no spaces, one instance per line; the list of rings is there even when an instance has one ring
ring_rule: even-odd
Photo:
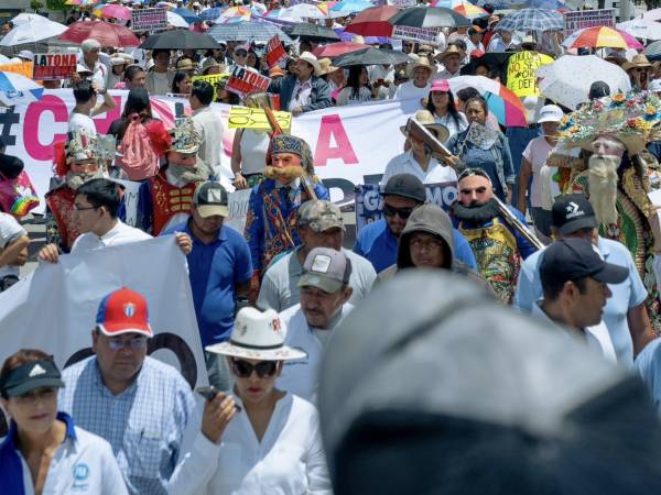
[[[351,262],[351,302],[369,294],[377,273],[365,257],[343,248],[345,227],[342,212],[336,205],[326,200],[307,201],[299,209],[299,234],[301,245],[275,257],[264,277],[257,299],[262,309],[283,311],[299,302],[299,279],[303,274],[303,262],[315,248],[342,251]]]

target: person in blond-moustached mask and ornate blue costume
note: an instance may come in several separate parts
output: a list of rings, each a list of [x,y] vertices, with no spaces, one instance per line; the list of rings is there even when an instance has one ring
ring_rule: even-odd
[[[264,178],[252,188],[243,235],[252,258],[251,294],[257,297],[261,274],[278,254],[301,244],[299,207],[310,198],[303,174],[316,199],[329,199],[328,190],[314,175],[307,143],[293,135],[279,134],[271,140]]]

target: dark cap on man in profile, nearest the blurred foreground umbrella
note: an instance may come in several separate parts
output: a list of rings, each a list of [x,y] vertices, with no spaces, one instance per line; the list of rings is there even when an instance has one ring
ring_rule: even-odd
[[[544,250],[540,276],[542,280],[567,282],[590,277],[606,284],[620,284],[629,276],[629,268],[606,263],[585,239],[561,239]]]

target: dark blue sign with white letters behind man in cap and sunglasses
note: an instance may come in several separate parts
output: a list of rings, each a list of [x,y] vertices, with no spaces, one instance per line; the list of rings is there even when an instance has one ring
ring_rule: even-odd
[[[425,184],[427,202],[445,211],[457,200],[457,183]],[[382,187],[378,184],[365,184],[356,188],[356,233],[368,223],[383,217]]]

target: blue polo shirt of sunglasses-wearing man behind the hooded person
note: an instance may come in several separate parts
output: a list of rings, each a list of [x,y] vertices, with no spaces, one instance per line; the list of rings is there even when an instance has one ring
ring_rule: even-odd
[[[477,271],[475,255],[466,238],[453,229],[454,257]],[[377,273],[397,263],[397,238],[392,235],[386,219],[368,223],[360,232],[354,245],[354,252],[369,260]]]

